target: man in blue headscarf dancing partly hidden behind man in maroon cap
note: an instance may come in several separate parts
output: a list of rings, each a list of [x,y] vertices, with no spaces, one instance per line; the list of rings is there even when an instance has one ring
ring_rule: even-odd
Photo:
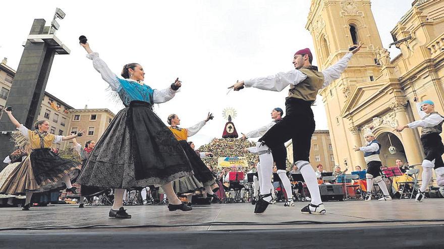
[[[252,137],[262,137],[263,135],[265,135],[265,133],[271,128],[273,127],[275,124],[279,123],[282,120],[282,116],[284,115],[284,111],[279,108],[276,107],[271,111],[271,118],[273,119],[273,121],[271,121],[270,123],[266,124],[265,126],[262,126],[256,130],[252,130],[250,132],[248,132],[247,134],[242,134],[242,139],[247,139],[247,138],[252,138]],[[256,150],[256,147],[253,147],[254,150]],[[283,156],[273,156],[273,160],[274,162],[276,162],[276,168],[278,169],[278,175],[279,178],[282,181],[282,184],[284,185],[284,189],[285,192],[287,194],[287,201],[285,202],[284,206],[285,207],[293,207],[295,206],[295,203],[293,201],[293,194],[292,194],[292,188],[291,188],[291,183],[290,180],[288,179],[287,176],[287,149],[285,148],[284,143],[281,144],[281,148],[280,150],[284,150],[285,151],[285,157]],[[273,151],[271,151],[271,153],[273,153]],[[258,176],[260,178],[260,163],[257,166],[257,172],[258,172]],[[267,179],[267,178],[264,178]],[[261,179],[259,180],[259,183],[262,184],[264,181],[262,181]],[[261,189],[262,185],[259,184],[259,189]],[[274,192],[274,191],[273,191]]]

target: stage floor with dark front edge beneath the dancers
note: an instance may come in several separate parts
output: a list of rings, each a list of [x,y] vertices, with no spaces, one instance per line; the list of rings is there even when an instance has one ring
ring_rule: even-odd
[[[169,212],[166,206],[128,206],[133,218],[126,220],[108,218],[109,206],[80,209],[59,205],[29,212],[0,208],[2,228],[121,226],[2,230],[0,248],[443,248],[444,199],[326,202],[326,215],[301,214],[306,204],[288,208],[278,203],[264,215],[254,215],[251,204],[216,204],[191,212]],[[288,221],[306,223],[283,223]],[[181,226],[207,222],[258,224]]]

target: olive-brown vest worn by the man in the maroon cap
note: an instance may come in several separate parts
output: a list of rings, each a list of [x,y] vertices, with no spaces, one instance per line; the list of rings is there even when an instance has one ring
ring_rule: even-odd
[[[307,75],[307,78],[298,85],[291,84],[288,97],[314,102],[324,84],[324,75],[317,70],[316,66],[302,67],[299,71]]]

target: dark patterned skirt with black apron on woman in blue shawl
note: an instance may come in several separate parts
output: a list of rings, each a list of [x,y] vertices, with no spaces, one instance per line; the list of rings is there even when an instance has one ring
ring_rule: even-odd
[[[132,101],[109,124],[77,182],[128,189],[164,185],[192,174],[184,150],[151,105]]]

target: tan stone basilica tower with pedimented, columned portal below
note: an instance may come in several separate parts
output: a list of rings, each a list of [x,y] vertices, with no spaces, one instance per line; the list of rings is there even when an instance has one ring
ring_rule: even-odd
[[[388,140],[398,143],[399,153],[391,155],[384,151],[383,163],[392,164],[395,156],[419,162],[418,131],[391,133],[398,124],[411,122],[416,115],[399,80],[396,65],[391,63],[388,51],[382,46],[370,0],[312,0],[305,28],[313,37],[320,70],[335,64],[349,48],[364,44],[341,77],[319,92],[327,115],[335,163],[343,170],[352,170],[356,165],[365,167],[362,153],[352,148],[365,144],[363,135],[368,131],[387,143]]]

